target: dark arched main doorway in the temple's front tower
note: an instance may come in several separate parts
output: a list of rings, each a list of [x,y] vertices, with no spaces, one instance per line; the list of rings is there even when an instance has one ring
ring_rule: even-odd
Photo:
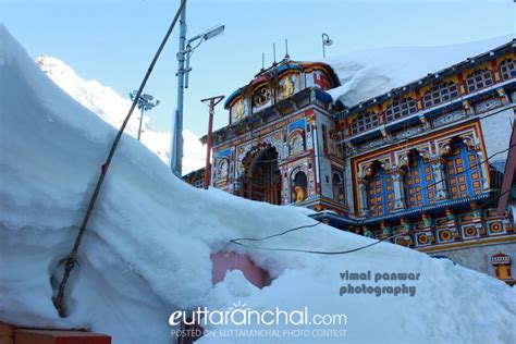
[[[262,146],[253,149],[243,160],[244,198],[281,205],[281,172],[278,167],[278,151]]]

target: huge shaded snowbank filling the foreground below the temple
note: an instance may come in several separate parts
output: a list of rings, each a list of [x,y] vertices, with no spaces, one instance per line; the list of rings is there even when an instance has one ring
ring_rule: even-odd
[[[516,341],[515,291],[446,259],[386,243],[336,256],[228,245],[231,238],[261,237],[314,220],[298,208],[196,189],[128,135],[81,247],[65,299],[67,317],[60,318],[51,300],[62,274],[59,260],[73,245],[116,131],[58,88],[3,25],[0,73],[5,86],[0,93],[0,321],[88,329],[112,335],[115,344],[170,343],[168,320],[174,310],[223,310],[243,303],[260,310],[345,314],[346,337],[204,336],[198,343]],[[370,243],[321,224],[255,245],[345,250]],[[270,273],[271,284],[259,290],[233,271],[212,286],[210,254],[222,249],[248,255]],[[411,282],[413,297],[340,296],[348,284],[340,277],[346,270],[413,272],[420,279]],[[226,325],[207,329],[220,328]]]

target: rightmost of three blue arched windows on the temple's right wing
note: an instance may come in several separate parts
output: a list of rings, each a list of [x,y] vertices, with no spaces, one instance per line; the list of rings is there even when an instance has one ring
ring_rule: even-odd
[[[445,157],[451,198],[482,193],[482,172],[477,150],[458,142]]]

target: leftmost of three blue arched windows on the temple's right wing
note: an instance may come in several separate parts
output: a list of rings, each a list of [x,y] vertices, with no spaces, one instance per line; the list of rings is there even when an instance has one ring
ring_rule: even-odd
[[[382,168],[377,168],[368,179],[367,199],[369,216],[381,217],[394,209],[394,187],[392,176]]]

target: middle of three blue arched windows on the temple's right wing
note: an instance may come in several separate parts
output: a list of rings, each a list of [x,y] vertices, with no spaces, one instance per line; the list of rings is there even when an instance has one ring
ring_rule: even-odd
[[[432,167],[419,153],[409,160],[405,174],[406,199],[409,208],[427,206],[435,199]]]

